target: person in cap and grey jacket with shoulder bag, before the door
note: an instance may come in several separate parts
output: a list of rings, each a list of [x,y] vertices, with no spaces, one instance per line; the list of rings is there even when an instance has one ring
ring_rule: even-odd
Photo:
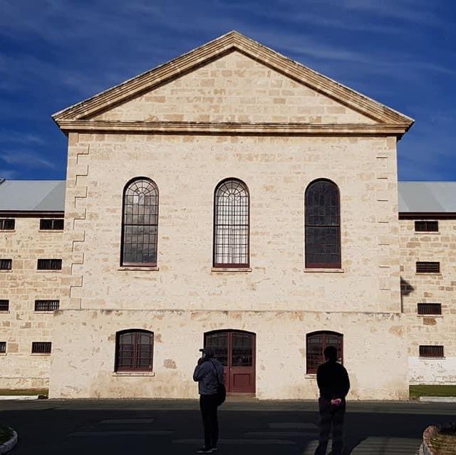
[[[223,365],[214,358],[212,347],[200,349],[202,356],[193,373],[193,380],[198,382],[199,409],[201,409],[204,427],[204,446],[196,454],[212,454],[217,451],[219,422],[217,420],[217,389],[223,384]]]

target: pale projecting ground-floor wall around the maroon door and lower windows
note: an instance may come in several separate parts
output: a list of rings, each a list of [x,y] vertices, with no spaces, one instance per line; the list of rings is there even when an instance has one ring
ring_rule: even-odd
[[[400,315],[307,311],[62,310],[56,313],[51,397],[197,397],[193,370],[204,333],[256,334],[259,399],[315,399],[306,375],[306,334],[343,333],[350,399],[406,399],[408,371]],[[153,372],[115,373],[115,333],[155,335]],[[379,341],[381,349],[379,349]],[[375,365],[375,368],[372,368]],[[394,372],[394,374],[392,374]]]

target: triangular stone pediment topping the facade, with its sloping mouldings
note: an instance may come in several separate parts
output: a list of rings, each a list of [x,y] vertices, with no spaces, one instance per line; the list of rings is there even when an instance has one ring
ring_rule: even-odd
[[[396,125],[413,120],[242,36],[190,53],[53,115],[71,121]]]

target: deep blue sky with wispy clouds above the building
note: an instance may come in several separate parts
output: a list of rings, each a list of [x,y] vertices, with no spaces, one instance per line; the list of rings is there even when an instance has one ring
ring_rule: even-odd
[[[0,177],[64,179],[51,114],[233,29],[415,118],[400,180],[456,180],[452,0],[0,0]]]

